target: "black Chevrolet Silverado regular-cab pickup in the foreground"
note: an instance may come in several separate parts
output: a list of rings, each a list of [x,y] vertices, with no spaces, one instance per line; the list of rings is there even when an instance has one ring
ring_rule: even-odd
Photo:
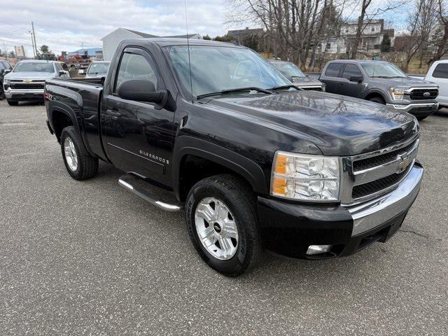
[[[48,80],[45,106],[73,179],[118,167],[127,190],[185,209],[198,253],[230,276],[263,248],[323,259],[386,241],[423,175],[414,116],[300,90],[228,43],[125,40],[105,78]]]

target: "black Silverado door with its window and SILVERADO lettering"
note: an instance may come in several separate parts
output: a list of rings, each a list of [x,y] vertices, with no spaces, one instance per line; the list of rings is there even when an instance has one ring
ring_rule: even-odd
[[[165,90],[149,52],[126,48],[111,83],[113,90],[104,96],[106,151],[119,169],[164,183],[167,167],[172,164],[174,112],[118,97],[120,83],[131,79],[151,80],[156,90]]]

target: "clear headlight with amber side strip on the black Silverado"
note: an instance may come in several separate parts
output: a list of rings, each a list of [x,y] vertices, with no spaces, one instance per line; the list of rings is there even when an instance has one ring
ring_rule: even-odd
[[[277,151],[271,195],[302,201],[339,200],[339,158]]]

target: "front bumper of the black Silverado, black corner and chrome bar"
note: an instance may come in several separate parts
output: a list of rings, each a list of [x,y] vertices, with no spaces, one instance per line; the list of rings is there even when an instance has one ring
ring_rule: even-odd
[[[295,204],[258,197],[262,241],[268,250],[292,258],[350,255],[400,228],[420,190],[423,167],[415,163],[391,193],[352,207]],[[310,245],[332,245],[328,253],[307,255]]]

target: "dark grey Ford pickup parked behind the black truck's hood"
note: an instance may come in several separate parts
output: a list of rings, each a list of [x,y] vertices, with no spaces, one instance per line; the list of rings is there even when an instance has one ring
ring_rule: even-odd
[[[410,78],[383,61],[336,60],[325,65],[319,77],[326,91],[386,104],[418,120],[437,111],[437,84]]]

